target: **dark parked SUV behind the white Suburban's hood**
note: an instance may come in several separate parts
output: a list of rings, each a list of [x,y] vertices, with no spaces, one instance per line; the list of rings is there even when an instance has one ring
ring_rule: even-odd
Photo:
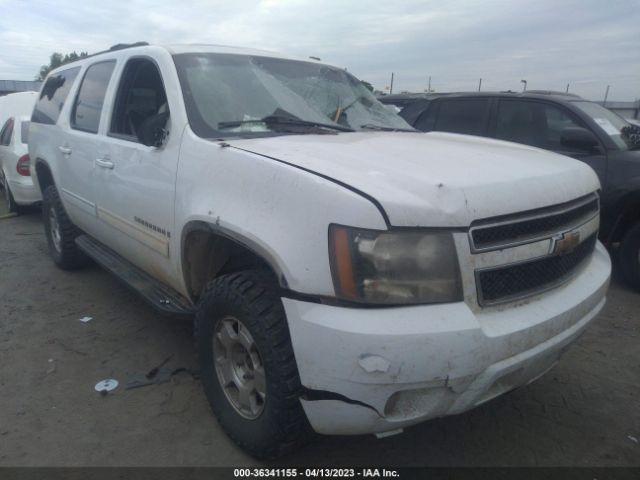
[[[383,102],[398,102],[383,98]],[[619,244],[619,266],[640,290],[638,127],[594,102],[557,92],[456,93],[413,97],[400,115],[415,128],[508,140],[591,166],[602,184],[600,239]],[[634,133],[635,132],[635,133]]]

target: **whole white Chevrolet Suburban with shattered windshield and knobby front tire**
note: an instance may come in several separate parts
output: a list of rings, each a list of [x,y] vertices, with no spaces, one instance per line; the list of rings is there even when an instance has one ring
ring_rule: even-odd
[[[258,457],[525,385],[605,302],[588,166],[418,133],[320,62],[116,46],[49,75],[29,140],[54,261],[195,316],[213,412]]]

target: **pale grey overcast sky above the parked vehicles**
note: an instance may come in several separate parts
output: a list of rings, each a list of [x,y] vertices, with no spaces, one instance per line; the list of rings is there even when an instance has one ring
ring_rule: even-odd
[[[216,43],[321,57],[376,88],[640,98],[640,0],[0,0],[0,79],[53,51]]]

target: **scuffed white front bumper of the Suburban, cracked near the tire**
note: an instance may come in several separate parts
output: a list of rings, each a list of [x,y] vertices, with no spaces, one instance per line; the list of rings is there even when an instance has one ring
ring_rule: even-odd
[[[318,433],[379,433],[460,413],[558,361],[605,303],[598,243],[568,283],[519,303],[343,308],[283,299],[301,400]]]

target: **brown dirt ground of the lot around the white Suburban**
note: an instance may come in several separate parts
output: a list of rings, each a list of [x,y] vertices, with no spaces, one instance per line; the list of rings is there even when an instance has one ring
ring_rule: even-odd
[[[639,314],[640,294],[616,280],[604,312],[534,384],[383,440],[323,437],[272,465],[638,466]],[[189,374],[123,388],[168,357],[195,368],[191,334],[97,266],[57,269],[39,212],[1,219],[0,466],[258,464]],[[105,378],[121,385],[102,397]]]

